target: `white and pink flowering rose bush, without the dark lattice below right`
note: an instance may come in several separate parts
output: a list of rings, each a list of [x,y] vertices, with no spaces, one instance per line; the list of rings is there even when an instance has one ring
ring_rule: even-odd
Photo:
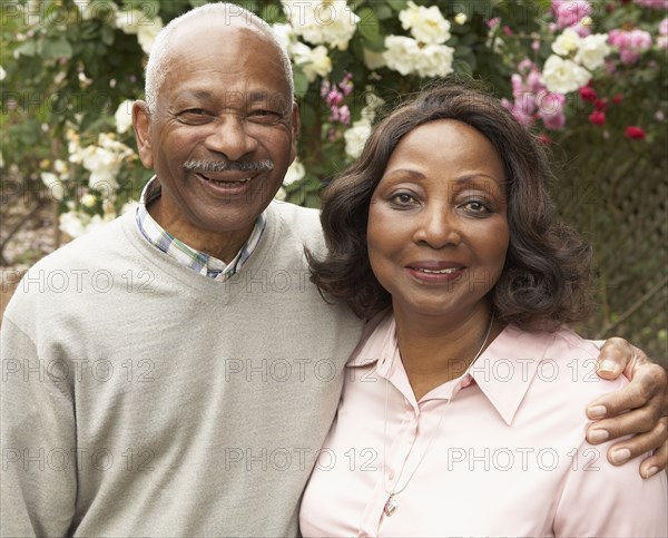
[[[130,110],[143,97],[146,55],[164,23],[200,3],[2,3],[0,164],[58,200],[68,235],[138,198],[149,173]],[[276,29],[294,63],[302,137],[281,197],[317,206],[323,183],[358,156],[383,106],[432,77],[488,81],[546,141],[590,129],[647,143],[665,129],[657,85],[665,89],[666,2],[431,3],[243,2]]]

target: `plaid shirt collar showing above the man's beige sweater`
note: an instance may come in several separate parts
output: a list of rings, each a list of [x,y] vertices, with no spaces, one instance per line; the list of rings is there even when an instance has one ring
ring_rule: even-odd
[[[253,251],[255,251],[266,226],[267,221],[263,213],[257,217],[257,221],[255,221],[255,226],[253,227],[248,241],[242,246],[234,260],[229,264],[226,264],[222,260],[215,258],[204,252],[196,251],[178,241],[149,215],[146,206],[159,196],[160,184],[157,182],[156,176],[154,176],[146,184],[146,187],[144,187],[141,198],[139,199],[139,206],[137,207],[136,219],[139,232],[141,232],[141,235],[144,235],[151,245],[159,248],[168,256],[171,256],[178,263],[212,278],[225,281],[235,275],[250,257]]]

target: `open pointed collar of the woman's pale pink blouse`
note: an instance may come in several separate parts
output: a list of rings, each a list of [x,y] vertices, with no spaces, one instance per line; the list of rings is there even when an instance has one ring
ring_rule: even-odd
[[[374,326],[375,330],[358,345],[346,366],[358,368],[376,363],[380,376],[396,382],[395,374],[397,369],[403,371],[403,365],[396,345],[394,316],[384,313],[382,320],[375,320]],[[530,333],[509,325],[478,358],[466,375],[444,383],[425,398],[454,398],[460,389],[470,384],[469,379],[473,379],[503,421],[510,425],[553,340],[554,335],[548,333]],[[400,383],[404,384],[401,379]],[[407,384],[407,378],[405,383]]]

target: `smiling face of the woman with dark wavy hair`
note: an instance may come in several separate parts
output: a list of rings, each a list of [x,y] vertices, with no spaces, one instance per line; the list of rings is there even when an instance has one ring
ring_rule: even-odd
[[[402,138],[366,231],[372,270],[397,315],[468,317],[488,307],[509,242],[505,180],[492,144],[466,124],[431,121]]]

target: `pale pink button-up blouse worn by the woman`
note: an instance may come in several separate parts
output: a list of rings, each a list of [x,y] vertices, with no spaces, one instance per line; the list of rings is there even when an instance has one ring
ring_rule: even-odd
[[[570,331],[510,326],[418,402],[387,316],[346,366],[303,535],[668,536],[666,475],[644,480],[584,440],[587,404],[627,383],[599,379],[597,355]]]

